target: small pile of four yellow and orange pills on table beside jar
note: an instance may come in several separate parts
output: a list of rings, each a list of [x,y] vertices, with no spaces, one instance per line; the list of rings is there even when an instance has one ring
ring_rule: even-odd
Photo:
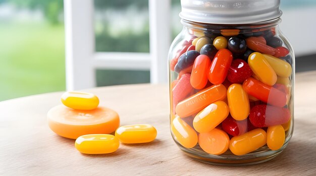
[[[81,153],[104,154],[115,152],[121,143],[138,144],[156,138],[156,129],[148,124],[120,126],[116,111],[98,106],[97,96],[86,92],[66,92],[61,105],[47,113],[49,128],[56,134],[76,139]],[[115,132],[115,136],[111,133]]]

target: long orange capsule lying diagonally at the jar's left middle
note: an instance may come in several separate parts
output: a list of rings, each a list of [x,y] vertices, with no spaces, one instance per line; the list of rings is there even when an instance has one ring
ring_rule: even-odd
[[[185,118],[201,111],[210,103],[225,99],[226,95],[227,89],[222,84],[210,86],[179,102],[176,113],[181,118]]]

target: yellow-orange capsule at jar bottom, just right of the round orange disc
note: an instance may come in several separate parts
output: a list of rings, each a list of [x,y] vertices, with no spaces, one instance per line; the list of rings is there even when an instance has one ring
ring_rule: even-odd
[[[267,143],[267,134],[260,128],[235,136],[230,140],[229,149],[235,155],[250,153]]]

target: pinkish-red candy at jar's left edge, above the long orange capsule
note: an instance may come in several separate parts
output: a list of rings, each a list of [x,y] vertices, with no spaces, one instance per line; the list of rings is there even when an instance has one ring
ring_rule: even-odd
[[[172,101],[174,108],[193,90],[193,87],[190,84],[190,77],[191,74],[189,73],[183,74],[177,85],[172,89]]]

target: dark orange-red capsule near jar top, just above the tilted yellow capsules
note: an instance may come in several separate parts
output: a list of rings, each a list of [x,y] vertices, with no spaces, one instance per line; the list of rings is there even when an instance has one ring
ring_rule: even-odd
[[[260,53],[263,53],[263,54],[270,54],[270,55],[274,55],[276,52],[277,52],[277,49],[265,44],[265,43],[262,43],[262,40],[257,37],[249,37],[246,39],[246,43],[247,43],[247,47],[254,50],[254,51],[257,51],[257,52],[260,52]]]

